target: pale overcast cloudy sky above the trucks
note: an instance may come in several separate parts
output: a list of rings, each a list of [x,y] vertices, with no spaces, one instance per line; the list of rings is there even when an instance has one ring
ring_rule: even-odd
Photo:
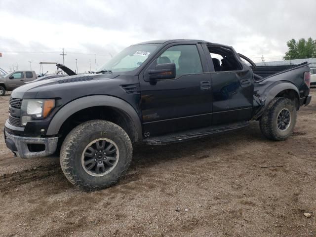
[[[95,70],[130,44],[199,39],[255,62],[281,60],[292,38],[316,39],[316,0],[0,0],[0,68],[40,62]],[[54,72],[44,66],[43,71]]]

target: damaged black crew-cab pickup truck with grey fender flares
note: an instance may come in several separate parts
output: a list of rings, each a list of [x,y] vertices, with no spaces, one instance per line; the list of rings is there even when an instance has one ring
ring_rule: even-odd
[[[303,63],[262,77],[255,67],[232,47],[203,40],[131,45],[94,74],[15,89],[5,142],[20,158],[60,152],[68,180],[95,190],[127,170],[132,143],[183,142],[249,120],[259,120],[267,138],[284,140],[311,101],[310,68]]]

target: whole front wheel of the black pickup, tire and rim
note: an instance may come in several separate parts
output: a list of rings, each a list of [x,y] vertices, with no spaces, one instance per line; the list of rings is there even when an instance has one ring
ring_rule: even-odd
[[[75,127],[60,152],[60,164],[67,179],[90,191],[118,182],[131,159],[128,135],[117,124],[105,120],[91,120]]]

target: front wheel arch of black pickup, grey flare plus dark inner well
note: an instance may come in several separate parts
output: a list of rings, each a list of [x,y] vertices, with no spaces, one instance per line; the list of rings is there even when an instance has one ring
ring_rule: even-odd
[[[52,118],[46,134],[59,134],[62,127],[65,125],[65,122],[69,121],[72,116],[75,116],[78,113],[89,113],[100,107],[103,107],[105,111],[111,111],[112,114],[116,113],[122,123],[128,123],[125,127],[127,131],[124,128],[123,129],[128,133],[132,142],[141,140],[142,126],[140,118],[135,109],[122,99],[106,95],[86,96],[66,104]],[[96,118],[98,117],[93,117],[93,115],[91,116],[91,119]]]

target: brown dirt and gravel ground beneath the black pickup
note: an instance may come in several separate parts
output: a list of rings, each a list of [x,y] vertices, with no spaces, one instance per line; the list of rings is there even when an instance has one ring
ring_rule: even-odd
[[[8,100],[0,97],[1,129]],[[0,236],[316,236],[315,124],[314,99],[287,141],[266,140],[251,122],[183,144],[136,146],[118,185],[92,193],[66,180],[58,158],[14,158],[1,134]]]

